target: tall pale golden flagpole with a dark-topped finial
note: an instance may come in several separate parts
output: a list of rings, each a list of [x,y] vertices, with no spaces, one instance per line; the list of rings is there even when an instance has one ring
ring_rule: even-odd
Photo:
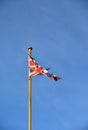
[[[32,47],[28,48],[28,73],[30,74],[30,55]],[[32,130],[32,78],[28,75],[28,130]]]

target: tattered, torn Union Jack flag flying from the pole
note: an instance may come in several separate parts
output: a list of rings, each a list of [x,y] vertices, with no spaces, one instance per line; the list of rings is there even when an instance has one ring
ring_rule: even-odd
[[[29,79],[39,74],[49,77],[52,81],[57,81],[61,79],[61,77],[57,75],[50,74],[48,72],[49,68],[44,69],[42,66],[38,65],[35,59],[31,55],[29,55],[28,58],[28,66],[29,66]]]

